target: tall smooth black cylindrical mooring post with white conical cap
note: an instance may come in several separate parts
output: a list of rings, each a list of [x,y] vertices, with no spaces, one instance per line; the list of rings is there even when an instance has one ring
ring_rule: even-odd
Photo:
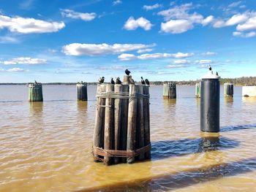
[[[219,76],[212,71],[201,82],[200,129],[219,132]]]

